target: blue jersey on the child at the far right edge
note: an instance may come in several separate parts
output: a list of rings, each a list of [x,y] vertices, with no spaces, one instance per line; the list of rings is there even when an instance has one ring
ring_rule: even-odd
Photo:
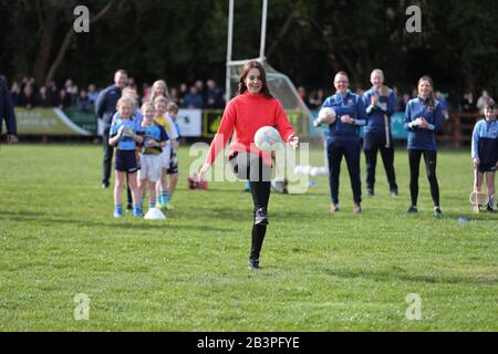
[[[473,158],[483,164],[496,164],[498,159],[498,122],[481,119],[473,132]]]

